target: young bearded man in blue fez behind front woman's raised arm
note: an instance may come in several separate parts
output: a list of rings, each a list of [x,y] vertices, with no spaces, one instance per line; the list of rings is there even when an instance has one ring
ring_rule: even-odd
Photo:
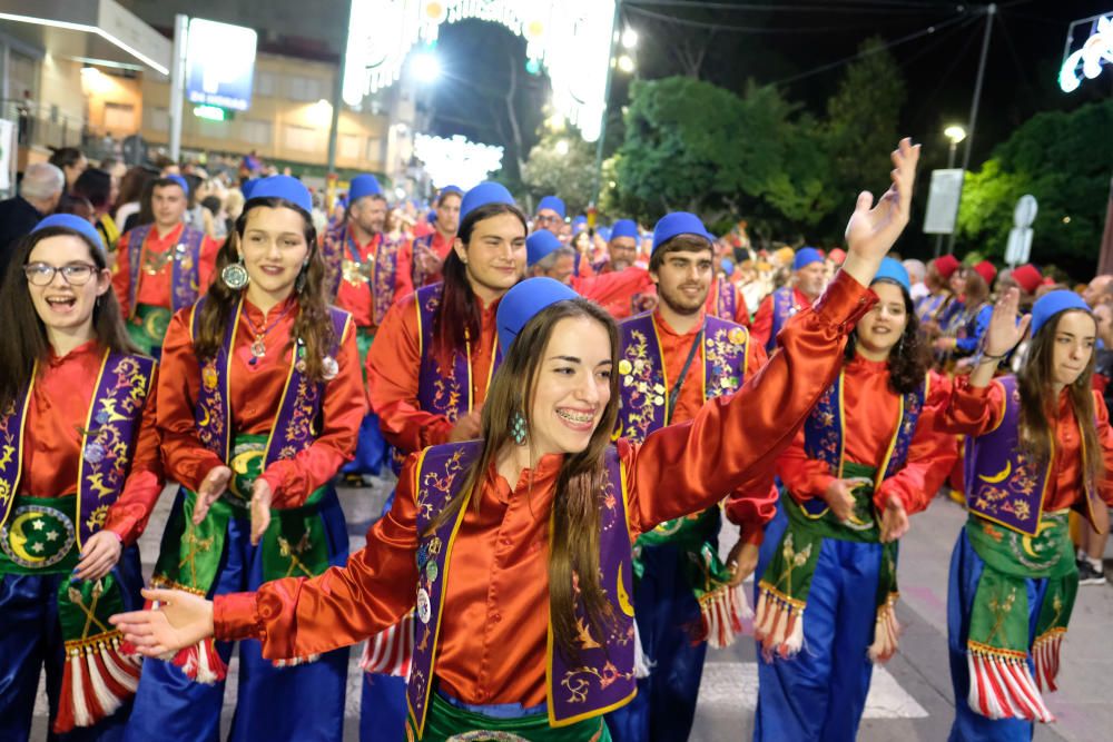
[[[766,362],[745,327],[707,315],[713,238],[692,214],[663,217],[653,230],[649,273],[660,299],[652,313],[619,325],[622,404],[617,436],[633,443],[691,419],[705,402],[732,394]],[[729,493],[722,493],[727,496]],[[737,590],[757,565],[765,524],[776,512],[772,473],[732,499],[740,538],[729,565],[718,558],[719,508],[643,533],[634,551],[637,627],[646,662],[638,695],[612,712],[617,742],[687,740],[710,641],[729,644],[745,598]]]

